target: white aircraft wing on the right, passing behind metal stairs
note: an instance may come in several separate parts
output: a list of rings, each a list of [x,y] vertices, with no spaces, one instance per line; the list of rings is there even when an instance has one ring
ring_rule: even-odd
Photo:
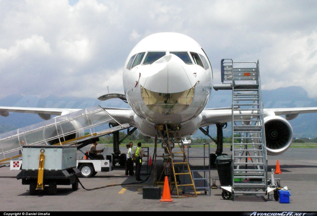
[[[238,112],[238,111],[236,111]],[[317,112],[317,107],[301,107],[301,108],[270,108],[263,109],[265,116],[282,116],[285,115],[286,120],[292,120],[300,113],[314,113]],[[231,107],[204,109],[201,113],[203,119],[199,127],[204,127],[210,124],[231,122]]]

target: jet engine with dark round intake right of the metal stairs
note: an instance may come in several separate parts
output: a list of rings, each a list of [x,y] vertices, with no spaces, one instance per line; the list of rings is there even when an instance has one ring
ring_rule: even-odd
[[[280,116],[264,118],[266,150],[268,155],[280,155],[293,142],[293,128],[291,124]]]

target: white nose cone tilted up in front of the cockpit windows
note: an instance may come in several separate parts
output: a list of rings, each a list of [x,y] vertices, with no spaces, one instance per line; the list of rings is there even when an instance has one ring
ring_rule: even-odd
[[[139,84],[152,92],[176,93],[195,86],[196,78],[183,60],[167,54],[151,65],[139,68]]]

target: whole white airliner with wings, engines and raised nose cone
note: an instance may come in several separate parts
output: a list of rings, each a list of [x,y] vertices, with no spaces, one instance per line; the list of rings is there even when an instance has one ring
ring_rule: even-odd
[[[110,122],[130,124],[146,136],[155,137],[159,124],[178,125],[181,137],[188,137],[197,129],[217,124],[217,133],[221,135],[223,124],[232,120],[231,109],[205,109],[213,88],[210,61],[203,48],[183,34],[157,33],[141,40],[132,49],[124,65],[123,86],[124,95],[106,94],[99,99],[120,98],[131,109],[103,110],[113,118]],[[50,119],[51,115],[68,115],[76,111],[79,110],[0,107],[0,115],[4,117],[10,112],[25,112],[37,113],[45,120]],[[317,107],[264,109],[265,130],[269,131],[266,133],[267,153],[279,155],[291,145],[293,129],[288,120],[296,118],[300,113],[316,111]],[[68,126],[75,129],[81,127],[74,123]],[[79,136],[80,133],[76,133],[71,138]],[[274,142],[270,141],[272,137]],[[221,142],[218,144],[222,145]]]

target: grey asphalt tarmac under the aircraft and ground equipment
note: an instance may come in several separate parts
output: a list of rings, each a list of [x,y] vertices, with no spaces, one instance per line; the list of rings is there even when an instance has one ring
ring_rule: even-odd
[[[207,148],[189,148],[189,163],[195,166],[204,164],[203,158],[208,156]],[[150,148],[150,155],[153,149]],[[161,154],[158,149],[158,155]],[[213,153],[215,148],[210,148]],[[229,148],[224,153],[231,155]],[[191,158],[193,157],[193,158]],[[160,158],[158,159],[161,160]],[[142,179],[135,181],[134,176],[126,176],[124,168],[116,168],[111,172],[97,173],[93,178],[80,178],[81,185],[77,191],[71,186],[57,186],[57,195],[41,193],[31,196],[29,185],[22,185],[16,180],[20,171],[11,171],[9,167],[0,168],[0,211],[14,212],[51,212],[51,211],[239,211],[239,212],[314,212],[317,211],[317,148],[290,148],[283,155],[268,156],[268,170],[276,168],[279,160],[281,187],[288,187],[290,203],[279,203],[268,195],[234,195],[224,200],[217,180],[217,189],[211,189],[210,195],[198,191],[197,197],[177,198],[176,190],[171,194],[172,201],[159,199],[143,199],[143,187],[153,186],[153,172],[147,178],[143,170]],[[208,167],[208,162],[205,160]],[[153,167],[153,166],[152,166]],[[143,166],[143,168],[146,168]],[[150,172],[149,167],[148,172]],[[192,168],[191,168],[192,169]],[[211,168],[210,176],[218,177],[217,168]],[[270,173],[269,173],[270,176]],[[123,184],[123,185],[120,185]],[[109,185],[117,185],[109,187]],[[163,185],[160,185],[163,192]],[[98,188],[98,189],[96,189]],[[91,190],[93,189],[93,190]]]

